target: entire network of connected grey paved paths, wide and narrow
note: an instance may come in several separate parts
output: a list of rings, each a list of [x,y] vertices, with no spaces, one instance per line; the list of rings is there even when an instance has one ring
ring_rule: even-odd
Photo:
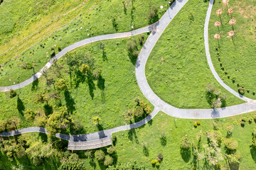
[[[164,102],[154,94],[154,91],[151,90],[149,84],[146,81],[146,75],[145,75],[145,66],[146,66],[146,60],[148,59],[151,50],[153,50],[154,45],[156,44],[157,40],[159,40],[161,34],[164,32],[166,27],[171,22],[172,18],[176,16],[178,11],[181,10],[181,8],[188,2],[188,0],[176,0],[174,4],[171,5],[171,7],[166,11],[164,16],[159,20],[159,22],[155,23],[154,25],[148,26],[146,28],[141,28],[139,30],[134,30],[127,33],[117,33],[113,35],[100,35],[95,38],[89,38],[86,40],[82,40],[80,42],[76,42],[73,45],[70,45],[66,47],[63,51],[59,52],[58,55],[53,57],[48,64],[46,64],[43,69],[41,69],[40,72],[34,75],[34,77],[31,77],[31,79],[28,79],[27,81],[24,81],[21,84],[17,84],[14,86],[8,86],[8,87],[0,87],[0,91],[9,91],[10,89],[18,89],[22,86],[26,86],[29,83],[31,83],[34,79],[37,79],[41,76],[44,69],[48,69],[54,62],[54,60],[58,60],[60,57],[65,55],[70,50],[74,50],[77,47],[80,47],[82,45],[86,45],[91,42],[95,42],[98,40],[107,40],[107,39],[114,39],[114,38],[125,38],[132,35],[137,35],[140,33],[145,33],[148,31],[151,31],[151,34],[149,35],[149,38],[146,40],[144,46],[142,47],[141,52],[139,53],[137,63],[135,66],[135,73],[137,77],[137,82],[139,85],[139,88],[141,89],[142,93],[146,98],[154,105],[154,111],[149,115],[148,117],[144,118],[144,120],[139,121],[138,123],[134,123],[132,125],[124,125],[117,128],[112,128],[110,130],[102,130],[100,132],[85,134],[85,135],[63,135],[63,134],[56,134],[55,137],[59,137],[63,140],[68,141],[89,141],[89,140],[99,140],[104,137],[110,137],[113,132],[119,132],[122,130],[130,130],[132,128],[138,128],[141,125],[144,125],[145,123],[149,122],[159,111],[164,111],[164,113],[171,115],[176,118],[191,118],[191,119],[210,119],[210,118],[225,118],[233,115],[239,115],[242,113],[247,113],[250,111],[256,111],[256,103],[255,101],[250,100],[249,98],[245,98],[242,96],[239,96],[236,94],[235,91],[232,91],[230,89],[229,91],[233,93],[235,96],[238,96],[242,98],[244,101],[248,101],[247,103],[243,103],[237,106],[230,106],[226,108],[218,108],[218,109],[182,109],[182,108],[175,108],[174,106],[169,105],[168,103]],[[208,12],[206,15],[206,27],[205,27],[205,38],[208,38],[208,21],[210,18],[210,11],[213,6],[213,0],[210,0]],[[207,33],[206,33],[207,32]],[[206,42],[207,41],[207,42]],[[208,40],[205,40],[206,45],[208,45]],[[208,49],[208,48],[206,48]],[[208,57],[208,63],[209,65],[213,64],[210,61],[210,53],[207,52],[206,54]],[[212,67],[211,71],[215,72],[214,68]],[[214,74],[213,72],[213,74]],[[218,78],[218,74],[215,75],[215,78]],[[216,78],[216,79],[217,79]],[[222,81],[219,81],[222,82]],[[222,84],[223,85],[223,84]],[[223,85],[224,86],[224,85]],[[225,85],[226,86],[226,85]],[[224,87],[225,87],[224,86]],[[225,88],[228,88],[225,87]],[[48,133],[45,128],[24,128],[21,130],[14,130],[11,132],[3,132],[0,134],[0,136],[12,136],[12,135],[18,135],[25,132],[44,132]]]

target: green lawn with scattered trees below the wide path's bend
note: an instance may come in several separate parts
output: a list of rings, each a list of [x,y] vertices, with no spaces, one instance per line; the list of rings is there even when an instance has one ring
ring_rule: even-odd
[[[233,127],[232,138],[238,141],[238,152],[242,154],[240,169],[255,169],[255,150],[250,149],[255,123],[252,122],[250,124],[247,121],[244,128],[240,126],[241,118],[249,118],[253,115],[255,115],[255,112],[225,119],[200,120],[201,125],[194,128],[193,123],[195,120],[176,119],[160,112],[151,123],[147,123],[142,128],[114,133],[117,136],[117,164],[136,161],[137,164],[146,166],[146,169],[157,169],[151,166],[151,160],[156,159],[158,154],[163,154],[164,159],[160,163],[159,169],[191,169],[194,164],[193,155],[181,156],[181,137],[187,135],[190,140],[193,139],[195,144],[198,145],[197,135],[202,132],[203,136],[200,145],[202,149],[202,146],[207,143],[206,132],[213,130],[213,122],[215,122],[218,125],[218,130],[222,133],[220,148],[223,160],[219,160],[222,166],[221,169],[229,169],[229,165],[225,161],[223,143],[227,135],[228,126]],[[174,123],[174,120],[176,120],[176,123]],[[161,142],[163,134],[166,142]],[[85,159],[85,162],[87,162],[88,169],[92,168],[87,159]],[[97,163],[97,161],[95,162]],[[197,168],[214,169],[213,166],[203,160],[198,162]],[[98,164],[95,169],[100,169]]]

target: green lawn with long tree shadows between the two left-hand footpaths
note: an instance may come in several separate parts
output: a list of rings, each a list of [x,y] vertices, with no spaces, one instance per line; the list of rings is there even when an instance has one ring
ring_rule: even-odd
[[[76,122],[82,123],[84,133],[98,131],[97,126],[92,125],[92,117],[95,115],[100,115],[103,129],[125,125],[122,114],[136,105],[134,98],[139,96],[146,101],[137,85],[134,64],[127,51],[127,40],[134,38],[139,50],[142,48],[139,45],[141,36],[95,42],[70,52],[69,57],[66,55],[58,60],[48,70],[47,79],[64,79],[69,86],[68,91],[58,92],[53,84],[46,85],[46,77],[41,77],[33,84],[18,89],[18,97],[9,98],[9,92],[0,93],[0,119],[18,117],[22,120],[18,128],[30,127],[36,124],[24,118],[23,113],[28,109],[43,115],[47,111],[44,109],[46,106],[52,107],[53,111],[58,110],[60,106],[66,106]],[[144,37],[145,41],[146,33]],[[85,79],[79,72],[79,64],[70,69],[67,64],[70,61],[90,63],[92,74],[101,70],[102,77],[97,80]],[[42,94],[48,98],[48,104],[37,101],[38,96]],[[60,96],[60,100],[54,96]],[[154,109],[153,106],[151,109]]]

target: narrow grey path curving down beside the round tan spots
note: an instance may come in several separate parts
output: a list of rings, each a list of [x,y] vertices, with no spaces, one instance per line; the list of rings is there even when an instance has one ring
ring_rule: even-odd
[[[210,50],[209,50],[209,43],[208,43],[208,27],[209,27],[209,21],[210,21],[210,12],[212,11],[212,8],[213,8],[213,1],[214,0],[210,0],[210,2],[209,2],[208,11],[206,13],[206,22],[205,22],[205,26],[204,26],[204,39],[205,39],[206,57],[207,57],[208,65],[210,67],[210,71],[213,73],[213,76],[218,81],[218,83],[221,86],[223,86],[226,90],[228,90],[231,94],[237,96],[238,98],[241,98],[244,101],[252,101],[252,99],[247,98],[245,96],[242,96],[241,94],[238,94],[238,92],[234,91],[227,84],[225,84],[223,82],[223,80],[220,79],[220,77],[218,76],[218,73],[215,71],[215,69],[213,67],[213,62],[210,59]]]

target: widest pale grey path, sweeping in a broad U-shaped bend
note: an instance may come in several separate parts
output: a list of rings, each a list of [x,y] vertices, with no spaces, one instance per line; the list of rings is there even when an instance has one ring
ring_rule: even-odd
[[[145,75],[145,67],[146,61],[153,50],[154,45],[156,45],[157,40],[159,40],[161,34],[164,32],[166,27],[171,22],[172,18],[176,16],[178,13],[178,9],[181,6],[184,6],[188,0],[176,1],[174,3],[174,10],[167,11],[164,16],[159,20],[159,26],[156,27],[146,40],[144,46],[142,47],[141,52],[139,53],[139,57],[137,59],[137,63],[135,65],[135,73],[139,88],[142,91],[142,94],[155,106],[164,111],[164,113],[171,115],[176,118],[191,118],[191,119],[210,119],[210,118],[225,118],[233,115],[239,115],[242,113],[248,113],[250,111],[256,111],[256,102],[250,100],[249,98],[241,97],[244,101],[248,101],[247,103],[242,103],[236,106],[230,106],[226,108],[217,108],[217,109],[183,109],[183,108],[175,108],[174,106],[169,105],[164,102],[157,96],[154,91],[150,88],[148,82],[146,81]],[[208,12],[206,15],[206,21],[208,21],[208,17],[210,16],[210,12],[213,6],[213,0],[210,0]],[[208,22],[206,22],[208,23]],[[208,34],[207,34],[208,35]],[[235,94],[235,93],[234,93]],[[237,96],[237,95],[235,95]]]

